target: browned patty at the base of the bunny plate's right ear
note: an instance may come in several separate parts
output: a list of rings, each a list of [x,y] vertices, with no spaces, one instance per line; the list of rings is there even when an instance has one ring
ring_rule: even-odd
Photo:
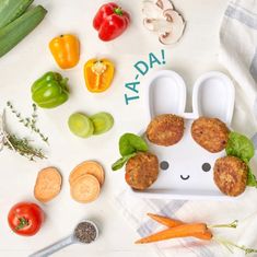
[[[211,153],[225,149],[229,135],[226,125],[218,118],[200,117],[191,125],[194,140]]]

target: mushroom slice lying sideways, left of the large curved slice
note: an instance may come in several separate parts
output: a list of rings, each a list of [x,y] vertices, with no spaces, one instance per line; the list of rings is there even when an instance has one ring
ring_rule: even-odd
[[[172,23],[164,19],[144,19],[143,25],[149,31],[156,32],[157,34],[171,32],[173,28]]]

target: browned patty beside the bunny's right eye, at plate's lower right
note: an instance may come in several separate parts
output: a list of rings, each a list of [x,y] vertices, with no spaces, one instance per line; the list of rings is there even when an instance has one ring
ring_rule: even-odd
[[[227,196],[238,196],[246,187],[248,167],[238,157],[225,156],[215,161],[214,182]]]

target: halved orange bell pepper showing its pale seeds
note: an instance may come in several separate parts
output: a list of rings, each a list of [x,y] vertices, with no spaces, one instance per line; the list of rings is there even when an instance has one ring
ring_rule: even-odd
[[[91,59],[84,65],[85,84],[90,92],[106,91],[114,79],[114,63],[107,59]]]

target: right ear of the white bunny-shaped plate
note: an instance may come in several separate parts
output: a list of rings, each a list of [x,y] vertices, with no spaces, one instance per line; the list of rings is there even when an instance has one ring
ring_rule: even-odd
[[[208,72],[195,83],[192,108],[198,116],[219,118],[231,124],[235,102],[232,81],[221,72]]]

